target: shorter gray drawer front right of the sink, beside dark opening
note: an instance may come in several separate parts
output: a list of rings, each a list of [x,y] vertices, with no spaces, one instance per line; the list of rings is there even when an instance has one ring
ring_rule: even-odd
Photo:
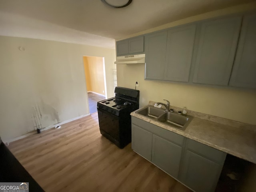
[[[186,140],[186,148],[219,164],[223,164],[226,158],[226,153],[191,139]]]

